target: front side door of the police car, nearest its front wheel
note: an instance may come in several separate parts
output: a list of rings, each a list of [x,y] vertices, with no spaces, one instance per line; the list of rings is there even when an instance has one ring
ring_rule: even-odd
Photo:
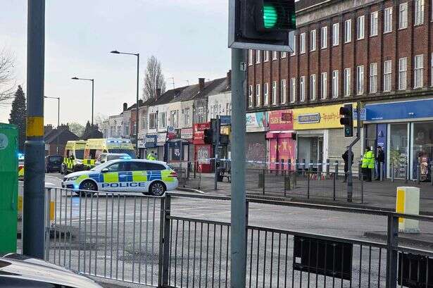
[[[127,173],[129,166],[127,162],[116,162],[104,168],[101,171],[103,181],[99,182],[98,189],[110,192],[129,192],[127,184],[130,181]]]

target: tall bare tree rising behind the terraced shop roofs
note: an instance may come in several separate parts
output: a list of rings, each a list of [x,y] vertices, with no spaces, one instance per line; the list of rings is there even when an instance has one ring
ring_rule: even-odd
[[[147,59],[146,74],[144,76],[143,99],[155,98],[156,89],[160,88],[161,93],[165,92],[165,80],[161,69],[161,62],[155,56]]]

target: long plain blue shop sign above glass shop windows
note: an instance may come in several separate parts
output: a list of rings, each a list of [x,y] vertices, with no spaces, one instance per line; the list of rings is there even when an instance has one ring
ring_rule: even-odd
[[[403,120],[433,117],[433,99],[401,101],[384,104],[368,104],[368,121]]]

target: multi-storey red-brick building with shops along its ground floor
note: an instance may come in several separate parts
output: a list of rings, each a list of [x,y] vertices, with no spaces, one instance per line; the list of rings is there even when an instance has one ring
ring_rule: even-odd
[[[406,165],[417,177],[433,156],[432,21],[428,0],[296,2],[294,52],[249,51],[247,149],[265,145],[277,163],[341,161],[351,139],[339,107],[362,101],[356,158],[384,146],[388,176],[394,163],[397,177]],[[250,132],[252,116],[265,124]]]

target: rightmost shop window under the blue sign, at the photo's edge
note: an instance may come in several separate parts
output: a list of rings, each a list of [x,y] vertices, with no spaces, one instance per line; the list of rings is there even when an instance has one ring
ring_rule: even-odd
[[[429,181],[428,164],[433,159],[433,122],[413,123],[412,179]]]

